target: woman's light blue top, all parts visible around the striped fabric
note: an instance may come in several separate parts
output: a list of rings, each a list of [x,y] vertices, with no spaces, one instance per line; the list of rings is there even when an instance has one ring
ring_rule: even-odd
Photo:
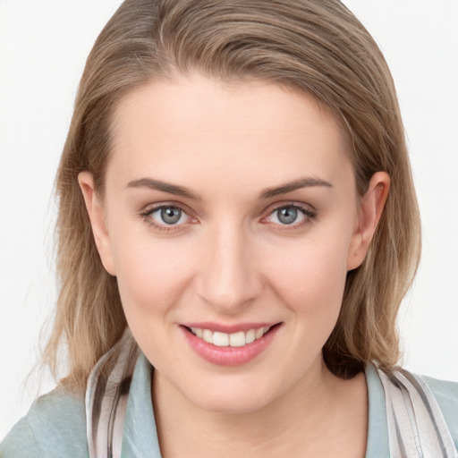
[[[160,458],[151,402],[150,365],[143,354],[135,367],[123,429],[123,457]],[[366,458],[389,457],[385,394],[368,366],[369,434]],[[424,377],[437,399],[458,450],[458,383]],[[0,445],[1,458],[89,457],[83,395],[59,386],[38,398]]]

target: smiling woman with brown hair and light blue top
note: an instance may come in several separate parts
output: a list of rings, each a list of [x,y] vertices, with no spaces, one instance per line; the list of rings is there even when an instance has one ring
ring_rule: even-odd
[[[418,208],[342,4],[124,2],[57,187],[70,374],[4,456],[456,455],[457,387],[397,370]]]

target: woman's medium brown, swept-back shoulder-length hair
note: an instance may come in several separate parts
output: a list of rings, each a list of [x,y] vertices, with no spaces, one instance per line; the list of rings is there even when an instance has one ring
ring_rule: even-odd
[[[386,171],[391,190],[363,264],[348,273],[324,357],[339,377],[369,361],[394,369],[395,320],[420,257],[420,220],[394,82],[369,32],[338,0],[126,0],[100,33],[82,75],[56,191],[60,294],[44,360],[55,373],[68,346],[70,380],[83,386],[126,325],[116,278],[91,233],[78,174],[103,193],[110,126],[120,100],[150,81],[200,72],[257,79],[312,96],[343,123],[360,195]]]

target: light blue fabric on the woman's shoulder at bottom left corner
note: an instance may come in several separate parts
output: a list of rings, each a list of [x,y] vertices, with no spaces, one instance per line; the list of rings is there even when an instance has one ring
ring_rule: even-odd
[[[89,456],[84,394],[58,386],[40,396],[0,445],[2,458]]]

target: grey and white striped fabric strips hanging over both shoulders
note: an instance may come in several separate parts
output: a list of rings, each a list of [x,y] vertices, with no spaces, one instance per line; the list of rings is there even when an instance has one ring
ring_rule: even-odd
[[[89,376],[86,419],[90,458],[121,458],[124,415],[139,354],[127,329]],[[380,369],[376,371],[385,391],[391,458],[458,458],[444,417],[425,382],[405,370],[389,377]]]

